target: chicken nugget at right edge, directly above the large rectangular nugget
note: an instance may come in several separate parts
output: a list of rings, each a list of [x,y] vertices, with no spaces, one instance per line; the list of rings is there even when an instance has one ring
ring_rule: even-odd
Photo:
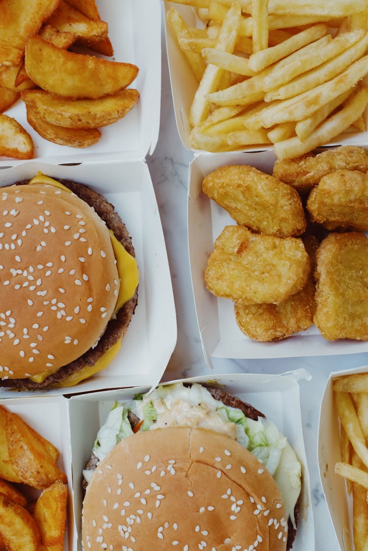
[[[358,170],[326,174],[311,191],[307,209],[312,222],[328,230],[368,230],[368,175]]]

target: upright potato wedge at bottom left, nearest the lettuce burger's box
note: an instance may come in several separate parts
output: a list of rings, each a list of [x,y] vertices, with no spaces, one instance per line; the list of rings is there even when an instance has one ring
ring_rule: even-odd
[[[56,480],[45,488],[37,499],[33,518],[39,528],[41,545],[63,549],[64,532],[66,528],[68,490],[65,484]]]

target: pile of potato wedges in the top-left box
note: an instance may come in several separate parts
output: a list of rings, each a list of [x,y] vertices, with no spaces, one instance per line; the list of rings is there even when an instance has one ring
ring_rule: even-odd
[[[84,53],[112,56],[107,31],[95,0],[0,3],[0,155],[34,156],[29,133],[4,113],[19,98],[42,138],[76,148],[98,142],[100,127],[136,105],[138,91],[126,88],[138,67]]]

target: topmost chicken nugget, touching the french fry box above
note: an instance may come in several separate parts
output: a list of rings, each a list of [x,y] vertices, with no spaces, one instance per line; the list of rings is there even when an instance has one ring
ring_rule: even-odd
[[[308,153],[295,159],[277,160],[273,175],[304,193],[317,185],[322,176],[335,170],[367,172],[368,151],[356,145],[342,145],[317,155]]]

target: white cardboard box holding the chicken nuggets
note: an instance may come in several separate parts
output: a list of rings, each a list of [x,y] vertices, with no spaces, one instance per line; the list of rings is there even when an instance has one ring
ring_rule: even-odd
[[[272,174],[273,152],[202,154],[190,165],[188,185],[188,245],[192,287],[199,333],[205,361],[217,358],[291,358],[353,354],[368,351],[365,341],[326,341],[313,325],[283,341],[252,341],[241,332],[235,321],[234,304],[212,295],[204,283],[207,260],[215,239],[228,224],[236,224],[230,215],[202,192],[204,176],[224,165],[246,164]],[[198,239],[198,236],[201,236]]]

